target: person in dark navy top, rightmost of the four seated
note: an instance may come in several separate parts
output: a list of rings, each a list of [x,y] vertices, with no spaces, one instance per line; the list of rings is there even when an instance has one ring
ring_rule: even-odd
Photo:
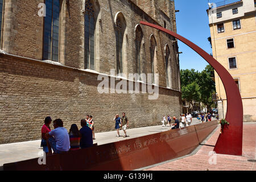
[[[90,129],[86,125],[85,119],[81,119],[81,127],[82,128],[80,129],[80,134],[81,134],[80,147],[81,148],[92,147],[93,146],[92,129]]]

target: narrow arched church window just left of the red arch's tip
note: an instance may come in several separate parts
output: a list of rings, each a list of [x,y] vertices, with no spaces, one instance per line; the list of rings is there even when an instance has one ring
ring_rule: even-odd
[[[117,49],[117,74],[123,73],[123,26],[117,18],[117,30],[115,31],[116,49]]]

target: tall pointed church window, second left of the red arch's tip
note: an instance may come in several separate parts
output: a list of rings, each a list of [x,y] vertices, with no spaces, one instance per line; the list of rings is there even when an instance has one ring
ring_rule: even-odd
[[[84,68],[94,68],[94,32],[95,32],[95,12],[92,2],[86,0],[85,15],[84,15]]]

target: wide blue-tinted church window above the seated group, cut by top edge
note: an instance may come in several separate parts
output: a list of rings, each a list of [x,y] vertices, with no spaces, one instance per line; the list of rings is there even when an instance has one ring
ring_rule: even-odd
[[[60,1],[46,0],[43,59],[59,60]]]

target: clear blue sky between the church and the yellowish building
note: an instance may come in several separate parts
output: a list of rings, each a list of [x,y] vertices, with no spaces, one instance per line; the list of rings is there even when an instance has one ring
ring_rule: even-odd
[[[220,2],[220,0],[209,0]],[[207,15],[208,0],[175,0],[177,34],[195,43],[208,53],[212,48],[207,38],[210,36],[209,20]],[[180,69],[195,69],[203,71],[208,65],[201,56],[182,42],[178,42],[180,54]]]

